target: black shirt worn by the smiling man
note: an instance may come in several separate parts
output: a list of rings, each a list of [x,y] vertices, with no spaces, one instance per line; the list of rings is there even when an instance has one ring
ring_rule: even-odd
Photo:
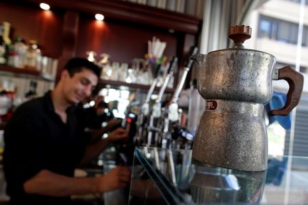
[[[42,169],[73,176],[89,137],[75,107],[66,113],[64,124],[48,92],[18,107],[5,126],[3,169],[11,204],[68,204],[69,197],[31,195],[23,189],[23,183]]]

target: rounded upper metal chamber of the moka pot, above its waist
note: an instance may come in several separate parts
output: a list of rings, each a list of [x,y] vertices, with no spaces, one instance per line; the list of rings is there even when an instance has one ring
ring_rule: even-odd
[[[198,91],[205,99],[267,103],[272,98],[276,58],[246,49],[225,49],[196,55]]]

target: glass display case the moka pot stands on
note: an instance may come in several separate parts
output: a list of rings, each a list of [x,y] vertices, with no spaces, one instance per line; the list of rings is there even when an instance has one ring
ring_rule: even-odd
[[[264,172],[200,166],[192,150],[139,147],[129,204],[308,204],[308,157],[269,156]]]

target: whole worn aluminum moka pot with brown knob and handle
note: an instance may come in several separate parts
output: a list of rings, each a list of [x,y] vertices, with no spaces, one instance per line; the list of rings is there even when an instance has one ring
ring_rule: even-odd
[[[198,92],[205,111],[198,124],[192,160],[246,172],[267,169],[268,137],[264,105],[272,98],[272,80],[284,79],[290,88],[285,106],[269,115],[287,115],[298,105],[303,92],[303,75],[290,66],[274,68],[269,53],[244,49],[251,28],[230,28],[233,49],[192,55],[198,65]]]

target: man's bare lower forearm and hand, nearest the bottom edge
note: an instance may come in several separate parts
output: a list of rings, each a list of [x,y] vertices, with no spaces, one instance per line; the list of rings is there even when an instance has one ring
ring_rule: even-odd
[[[60,197],[121,189],[130,178],[131,170],[128,167],[116,167],[99,177],[82,178],[63,176],[44,169],[27,180],[23,188],[26,193]]]

